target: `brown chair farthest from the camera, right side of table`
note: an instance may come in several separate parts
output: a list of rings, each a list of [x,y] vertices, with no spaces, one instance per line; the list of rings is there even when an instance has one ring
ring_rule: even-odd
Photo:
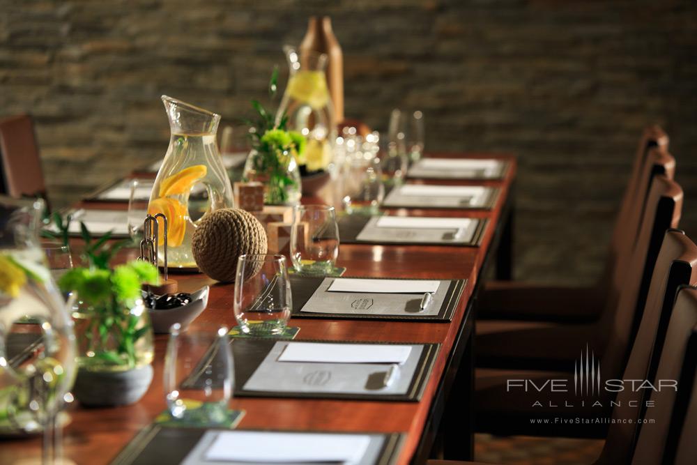
[[[673,178],[675,160],[652,162],[654,150],[667,153],[668,136],[658,126],[646,128],[634,157],[631,176],[615,220],[615,229],[604,272],[594,287],[551,287],[530,282],[487,282],[477,304],[477,318],[521,319],[525,321],[592,321],[616,299],[612,277],[627,266],[636,237],[643,203],[651,178],[665,174]],[[616,301],[616,300],[615,300]]]

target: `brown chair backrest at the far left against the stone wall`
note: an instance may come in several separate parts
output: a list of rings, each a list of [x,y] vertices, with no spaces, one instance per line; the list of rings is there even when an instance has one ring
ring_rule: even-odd
[[[2,185],[10,197],[46,196],[36,137],[26,115],[0,120]]]

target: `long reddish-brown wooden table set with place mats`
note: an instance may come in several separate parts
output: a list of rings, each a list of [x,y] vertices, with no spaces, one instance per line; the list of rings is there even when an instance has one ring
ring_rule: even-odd
[[[434,245],[340,245],[337,266],[346,276],[465,278],[467,284],[450,323],[376,320],[291,319],[296,339],[440,343],[433,372],[420,402],[376,402],[280,398],[235,398],[231,408],[246,415],[238,429],[335,432],[406,432],[398,463],[422,463],[435,447],[450,459],[470,459],[473,450],[473,308],[480,281],[496,256],[497,275],[510,278],[512,187],[516,162],[510,155],[438,154],[457,158],[505,158],[510,168],[500,181],[428,181],[456,185],[493,185],[500,195],[491,210],[390,209],[397,215],[487,218],[479,247]],[[421,182],[421,181],[419,181]],[[316,203],[303,199],[303,203]],[[84,204],[95,208],[100,204]],[[103,207],[103,206],[102,206]],[[125,208],[125,207],[124,207]],[[205,275],[174,275],[180,291],[211,284],[207,309],[199,321],[235,326],[233,285]],[[166,335],[155,337],[155,377],[137,404],[112,409],[70,409],[64,430],[64,455],[77,464],[106,464],[166,408],[162,367]],[[447,409],[446,409],[447,402]],[[40,454],[40,438],[1,441],[0,464]]]

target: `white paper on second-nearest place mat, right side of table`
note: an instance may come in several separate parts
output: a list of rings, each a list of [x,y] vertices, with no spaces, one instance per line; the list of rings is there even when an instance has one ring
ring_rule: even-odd
[[[323,344],[290,342],[279,362],[309,363],[404,363],[411,346],[392,344]]]

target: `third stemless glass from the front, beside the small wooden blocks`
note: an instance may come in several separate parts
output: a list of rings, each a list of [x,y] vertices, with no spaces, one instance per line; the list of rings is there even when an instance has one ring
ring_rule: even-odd
[[[339,225],[333,206],[298,205],[293,208],[291,261],[300,273],[326,275],[339,256]]]

